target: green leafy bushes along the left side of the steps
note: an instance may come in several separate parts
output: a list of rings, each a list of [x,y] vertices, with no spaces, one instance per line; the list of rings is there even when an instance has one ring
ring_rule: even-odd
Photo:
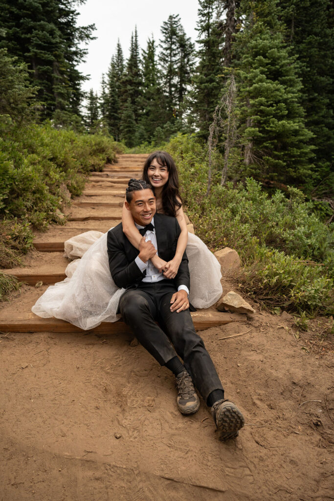
[[[30,225],[62,222],[58,212],[70,194],[81,194],[88,173],[116,161],[122,150],[105,136],[51,123],[17,126],[1,117],[0,136],[0,266],[10,268],[32,244]]]

